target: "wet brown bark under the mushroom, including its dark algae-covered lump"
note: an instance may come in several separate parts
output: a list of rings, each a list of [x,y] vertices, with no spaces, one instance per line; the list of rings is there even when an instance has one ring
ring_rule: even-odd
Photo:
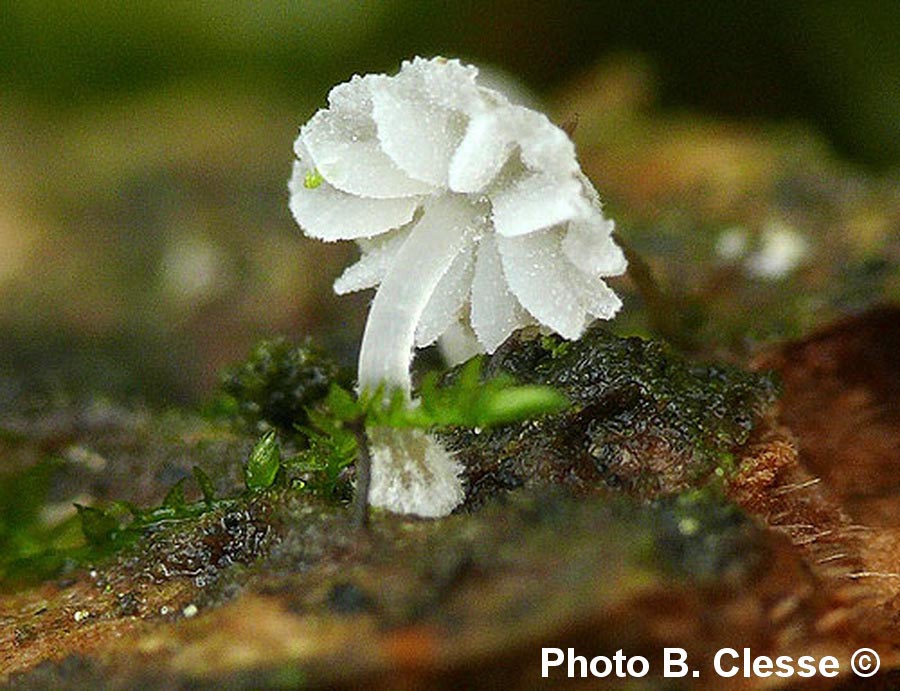
[[[346,507],[284,488],[162,526],[94,569],[0,596],[5,678],[22,688],[537,687],[542,646],[622,648],[651,670],[677,646],[698,685],[728,684],[713,676],[716,650],[750,647],[833,655],[842,674],[813,683],[847,687],[850,655],[868,646],[889,683],[900,668],[897,323],[885,308],[761,356],[780,398],[768,375],[606,332],[562,353],[540,339],[510,344],[490,367],[552,379],[576,404],[539,424],[456,435],[469,479],[457,514],[376,514],[362,531]],[[740,396],[711,411],[698,392]],[[103,432],[76,425],[66,443],[125,456],[109,435],[143,429],[143,443],[162,445],[152,425],[116,420]],[[205,461],[205,438],[214,457],[239,462],[244,442],[205,425],[184,423],[168,443]],[[22,434],[6,444],[26,462],[47,433]],[[603,463],[598,439],[612,448]],[[653,482],[622,482],[648,448],[661,468]],[[495,469],[486,480],[501,456],[507,479]]]

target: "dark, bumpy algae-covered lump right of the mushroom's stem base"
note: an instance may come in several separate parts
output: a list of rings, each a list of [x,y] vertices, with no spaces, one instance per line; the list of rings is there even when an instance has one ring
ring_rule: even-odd
[[[599,484],[645,498],[683,491],[727,469],[777,397],[765,373],[693,363],[660,342],[600,327],[575,342],[514,337],[485,371],[549,385],[573,405],[543,421],[450,435],[470,506],[533,483]]]

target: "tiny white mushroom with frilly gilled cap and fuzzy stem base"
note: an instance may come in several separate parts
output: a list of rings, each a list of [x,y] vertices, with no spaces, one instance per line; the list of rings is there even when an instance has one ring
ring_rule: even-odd
[[[492,353],[530,324],[576,339],[621,307],[603,279],[626,260],[572,141],[477,75],[458,60],[415,58],[395,76],[354,76],[294,145],[297,222],[362,252],[335,291],[378,288],[361,390],[409,396],[414,349],[442,337],[460,356]],[[458,464],[428,435],[385,431],[372,442],[373,505],[443,515],[462,500]]]

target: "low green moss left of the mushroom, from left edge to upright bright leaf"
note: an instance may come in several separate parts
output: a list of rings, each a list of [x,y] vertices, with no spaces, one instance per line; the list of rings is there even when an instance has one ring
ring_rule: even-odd
[[[210,432],[207,429],[207,433]],[[112,433],[123,435],[132,444],[137,443],[135,429],[124,426]],[[217,539],[227,541],[229,536],[239,532],[242,512],[258,499],[260,489],[272,484],[281,467],[280,458],[269,452],[272,438],[274,432],[265,436],[263,443],[251,452],[244,471],[247,486],[230,496],[217,496],[213,481],[195,466],[194,480],[199,492],[189,486],[190,477],[182,477],[169,488],[160,503],[149,508],[125,500],[98,501],[93,506],[75,504],[75,515],[56,521],[48,517],[45,509],[51,493],[56,494],[66,486],[71,468],[65,458],[46,457],[17,472],[0,476],[0,587],[27,586],[118,560],[140,561],[146,556],[144,552],[148,546],[158,543],[164,536],[176,542],[183,538],[182,552],[187,551],[190,544],[202,550],[209,549]],[[168,436],[152,438],[152,443],[159,446],[173,442],[174,439]],[[148,456],[147,462],[158,462],[159,459],[160,456]],[[248,470],[251,466],[252,472]],[[157,471],[164,469],[161,465]],[[102,479],[98,481],[102,482]],[[193,496],[199,494],[199,499],[189,500],[188,492]],[[55,498],[54,501],[59,500]],[[65,504],[64,501],[61,503]],[[225,521],[224,517],[230,517],[229,525],[217,528],[217,521]],[[256,535],[267,534],[268,529],[256,521],[253,531]],[[237,542],[235,539],[235,544]],[[247,544],[252,546],[252,540]],[[240,551],[229,549],[229,554],[234,555]],[[156,561],[164,563],[167,558],[163,550],[156,556]],[[184,561],[188,561],[187,558]],[[214,569],[210,567],[209,570]],[[179,573],[177,569],[171,571]]]

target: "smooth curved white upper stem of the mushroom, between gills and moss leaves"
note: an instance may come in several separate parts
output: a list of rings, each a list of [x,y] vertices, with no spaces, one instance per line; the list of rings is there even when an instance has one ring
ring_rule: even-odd
[[[425,205],[372,302],[359,354],[360,391],[384,385],[409,397],[416,326],[473,227],[473,209],[464,197],[439,197]]]

